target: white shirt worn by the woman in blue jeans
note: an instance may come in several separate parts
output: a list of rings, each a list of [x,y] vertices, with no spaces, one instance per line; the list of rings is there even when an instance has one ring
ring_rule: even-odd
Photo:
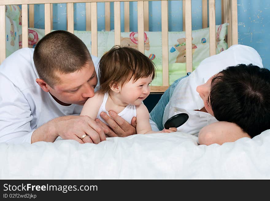
[[[172,97],[164,109],[163,125],[173,115],[187,113],[189,116],[187,122],[178,127],[177,131],[198,136],[201,128],[218,121],[209,113],[195,111],[204,107],[203,100],[196,88],[206,83],[214,74],[228,66],[238,64],[253,64],[263,67],[258,52],[245,45],[233,45],[220,54],[204,59],[190,76],[180,80],[175,87]]]

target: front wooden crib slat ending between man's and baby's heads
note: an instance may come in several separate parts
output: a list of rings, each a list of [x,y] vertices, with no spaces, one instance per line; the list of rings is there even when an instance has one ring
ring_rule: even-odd
[[[97,2],[91,2],[91,54],[98,56]]]

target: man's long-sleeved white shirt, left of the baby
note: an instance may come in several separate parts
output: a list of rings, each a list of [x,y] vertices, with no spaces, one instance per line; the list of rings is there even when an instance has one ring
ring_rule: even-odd
[[[62,106],[41,89],[33,61],[34,49],[22,48],[0,65],[0,142],[31,143],[35,129],[66,115],[79,115],[82,107]],[[98,73],[99,58],[92,56]],[[153,129],[157,129],[153,121]]]

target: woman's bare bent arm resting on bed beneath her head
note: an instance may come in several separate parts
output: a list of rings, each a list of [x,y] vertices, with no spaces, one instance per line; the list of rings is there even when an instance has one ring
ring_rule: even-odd
[[[227,121],[218,121],[203,127],[199,132],[199,144],[220,144],[234,142],[242,137],[250,136],[238,125]]]

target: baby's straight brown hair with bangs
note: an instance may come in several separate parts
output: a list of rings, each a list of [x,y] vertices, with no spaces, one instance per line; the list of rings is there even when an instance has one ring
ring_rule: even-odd
[[[99,61],[100,91],[106,93],[115,83],[122,85],[133,78],[134,82],[139,78],[152,75],[155,78],[154,63],[140,51],[131,47],[118,45],[106,52]]]

